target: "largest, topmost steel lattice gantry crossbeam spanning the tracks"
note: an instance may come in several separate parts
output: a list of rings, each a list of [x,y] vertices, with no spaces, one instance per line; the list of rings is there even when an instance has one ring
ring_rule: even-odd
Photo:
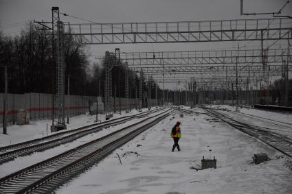
[[[289,19],[237,19],[153,23],[66,23],[66,34],[83,45],[279,40],[292,36]]]

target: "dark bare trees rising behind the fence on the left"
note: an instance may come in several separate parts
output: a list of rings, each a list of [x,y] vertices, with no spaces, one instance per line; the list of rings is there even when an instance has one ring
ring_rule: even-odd
[[[4,36],[0,29],[0,82],[4,82],[4,68],[8,66],[8,93],[52,93],[54,92],[54,77],[56,66],[53,58],[52,32],[40,30],[32,22],[27,23],[19,35]],[[65,36],[65,93],[67,93],[67,76],[70,77],[71,95],[102,95],[104,96],[104,62],[89,61],[89,51],[85,45],[80,45],[72,37]],[[112,69],[113,95],[125,97],[124,63],[117,58]],[[92,64],[91,64],[92,63]],[[145,80],[145,77],[144,77]],[[129,88],[131,97],[139,96],[139,77],[136,72],[129,71]],[[155,83],[153,83],[153,98]],[[1,93],[4,84],[0,84]],[[115,88],[117,88],[115,90]],[[144,81],[143,90],[148,90]],[[160,88],[159,88],[160,92]]]

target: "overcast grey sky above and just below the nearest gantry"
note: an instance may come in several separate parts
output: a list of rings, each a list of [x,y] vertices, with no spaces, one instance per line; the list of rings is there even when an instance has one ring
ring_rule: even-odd
[[[244,0],[244,12],[278,12],[287,0]],[[51,8],[97,23],[202,21],[252,19],[240,16],[240,0],[0,0],[0,29],[13,36],[24,27],[23,22],[51,21]],[[292,2],[282,11],[292,15]],[[270,18],[271,16],[260,16]],[[62,21],[85,23],[61,16]],[[244,43],[235,43],[244,44]],[[258,47],[259,43],[249,46]],[[237,46],[237,45],[236,45]],[[101,56],[105,51],[188,51],[235,47],[234,43],[168,43],[93,45],[89,51]]]

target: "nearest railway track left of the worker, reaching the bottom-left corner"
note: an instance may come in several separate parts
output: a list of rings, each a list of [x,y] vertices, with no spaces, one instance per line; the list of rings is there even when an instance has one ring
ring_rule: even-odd
[[[0,178],[0,193],[51,193],[124,143],[170,115],[166,110],[63,154]]]

